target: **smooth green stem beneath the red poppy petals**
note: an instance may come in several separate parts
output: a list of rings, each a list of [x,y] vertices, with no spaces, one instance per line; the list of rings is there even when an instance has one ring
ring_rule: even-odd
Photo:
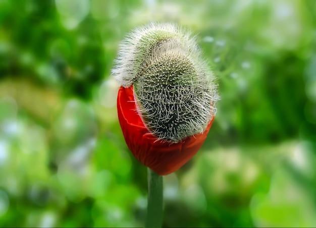
[[[163,223],[163,177],[150,168],[148,172],[148,203],[145,228],[161,228]]]

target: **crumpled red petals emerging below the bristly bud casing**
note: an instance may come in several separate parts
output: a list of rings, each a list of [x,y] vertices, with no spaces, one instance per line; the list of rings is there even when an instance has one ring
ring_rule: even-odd
[[[118,116],[125,141],[133,155],[159,175],[168,175],[188,162],[202,146],[214,117],[201,134],[180,143],[158,140],[144,125],[137,113],[133,86],[121,86],[118,94]]]

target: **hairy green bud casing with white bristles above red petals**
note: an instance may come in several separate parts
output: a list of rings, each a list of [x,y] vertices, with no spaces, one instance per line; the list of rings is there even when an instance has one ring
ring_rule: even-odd
[[[187,31],[173,24],[134,30],[122,42],[113,77],[134,86],[147,128],[170,142],[202,133],[215,115],[214,75]]]

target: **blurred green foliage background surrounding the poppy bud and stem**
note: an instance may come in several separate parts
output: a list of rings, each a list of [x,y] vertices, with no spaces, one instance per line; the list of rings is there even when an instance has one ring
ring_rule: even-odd
[[[164,227],[315,227],[315,20],[314,0],[0,0],[0,226],[143,226],[110,74],[156,21],[197,34],[221,96]]]

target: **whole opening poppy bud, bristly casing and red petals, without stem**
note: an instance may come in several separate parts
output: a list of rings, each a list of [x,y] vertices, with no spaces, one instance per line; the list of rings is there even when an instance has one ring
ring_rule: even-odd
[[[175,172],[202,146],[215,115],[214,76],[194,38],[172,24],[138,28],[122,42],[112,75],[129,149],[157,174]]]

